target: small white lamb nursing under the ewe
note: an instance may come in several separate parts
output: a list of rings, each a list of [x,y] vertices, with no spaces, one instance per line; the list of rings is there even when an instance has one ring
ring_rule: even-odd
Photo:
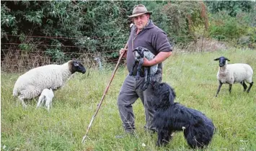
[[[47,110],[50,111],[50,106],[52,106],[53,97],[54,97],[53,89],[51,88],[43,89],[37,102],[37,108],[40,107],[41,104],[43,104],[45,101],[45,106],[47,107]]]

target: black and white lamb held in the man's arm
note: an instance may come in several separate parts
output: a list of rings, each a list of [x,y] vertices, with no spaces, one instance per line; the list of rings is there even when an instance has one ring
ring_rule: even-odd
[[[135,52],[135,62],[133,64],[133,68],[130,72],[130,75],[133,75],[134,68],[136,67],[136,65],[138,65],[136,73],[136,81],[138,81],[138,78],[141,75],[141,67],[142,64],[144,63],[144,58],[152,60],[155,57],[155,55],[144,47],[136,47],[136,49],[133,50],[133,52]],[[142,87],[143,91],[146,90],[146,88],[148,88],[149,83],[152,81],[154,74],[156,74],[157,68],[157,64],[152,65],[151,67],[144,67],[145,83],[144,86]]]

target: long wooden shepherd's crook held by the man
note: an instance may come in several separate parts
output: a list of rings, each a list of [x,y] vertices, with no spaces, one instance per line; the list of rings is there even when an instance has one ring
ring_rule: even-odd
[[[125,45],[125,49],[126,49],[126,48],[127,48],[127,44]],[[119,63],[120,63],[120,60],[123,58],[123,55],[124,55],[124,54],[125,54],[125,52],[123,52],[123,53],[120,55],[120,57],[119,57],[119,59],[118,59],[118,63],[115,65],[115,69],[114,69],[114,71],[113,71],[113,73],[112,73],[112,76],[111,76],[111,78],[110,78],[110,82],[107,84],[107,87],[105,88],[105,91],[104,91],[104,93],[103,93],[102,99],[100,100],[100,104],[98,105],[97,110],[95,111],[94,115],[92,116],[91,122],[89,122],[89,125],[88,125],[88,127],[87,127],[87,132],[84,134],[84,137],[83,137],[83,139],[81,140],[81,143],[84,142],[84,140],[86,139],[87,134],[88,134],[88,132],[89,132],[89,129],[92,127],[92,122],[94,121],[95,116],[97,115],[97,113],[98,113],[98,111],[99,111],[99,109],[100,109],[100,106],[102,105],[103,99],[104,99],[105,96],[106,96],[106,93],[107,93],[108,88],[110,88],[110,83],[112,82],[112,79],[113,79],[114,76],[115,76],[116,70],[118,70],[118,65],[119,65]]]

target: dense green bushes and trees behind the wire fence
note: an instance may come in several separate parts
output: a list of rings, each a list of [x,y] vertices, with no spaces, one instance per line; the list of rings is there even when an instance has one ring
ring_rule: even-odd
[[[1,42],[18,44],[1,47],[25,51],[17,56],[37,50],[54,62],[81,57],[76,52],[109,51],[117,58],[113,50],[125,45],[127,15],[136,4],[154,12],[151,19],[172,45],[185,47],[204,35],[255,47],[255,1],[1,1]]]

